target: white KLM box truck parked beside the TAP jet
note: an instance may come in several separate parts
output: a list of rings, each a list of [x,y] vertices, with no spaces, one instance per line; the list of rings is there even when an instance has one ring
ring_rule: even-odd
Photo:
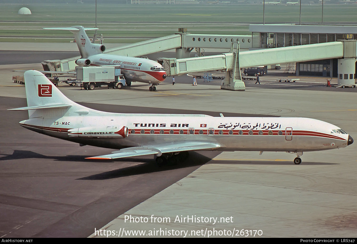
[[[120,66],[78,66],[76,81],[85,90],[94,90],[97,87],[121,89],[127,85]]]

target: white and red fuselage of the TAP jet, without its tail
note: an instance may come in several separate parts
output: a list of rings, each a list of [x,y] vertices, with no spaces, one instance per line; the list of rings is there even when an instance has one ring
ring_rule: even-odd
[[[95,66],[120,65],[126,81],[139,81],[157,85],[166,78],[164,67],[149,59],[110,54],[92,55],[88,59],[91,61],[91,65]]]

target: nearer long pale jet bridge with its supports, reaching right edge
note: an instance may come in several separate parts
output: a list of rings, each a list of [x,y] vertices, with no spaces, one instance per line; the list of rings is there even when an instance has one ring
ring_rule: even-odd
[[[355,85],[356,40],[341,40],[320,44],[310,44],[275,49],[260,49],[253,51],[234,51],[221,55],[193,57],[186,59],[161,58],[158,61],[168,75],[182,75],[192,72],[224,70],[229,79],[222,82],[222,89],[236,87],[235,82],[241,82],[240,68],[273,65],[276,63],[305,62],[322,59],[338,59],[338,85]],[[231,71],[231,72],[228,72]],[[239,72],[239,75],[237,74]],[[227,77],[227,75],[226,75]],[[235,77],[235,78],[232,78]],[[232,83],[233,82],[233,83]],[[229,85],[228,85],[229,84]],[[241,87],[241,85],[238,85]]]

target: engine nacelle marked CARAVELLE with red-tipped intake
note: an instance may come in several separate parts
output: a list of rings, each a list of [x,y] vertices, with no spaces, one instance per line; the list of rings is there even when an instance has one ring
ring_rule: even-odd
[[[81,127],[68,130],[68,136],[81,137],[81,138],[105,138],[105,139],[117,139],[125,138],[129,135],[128,127],[123,126],[118,129],[117,126],[107,127]]]

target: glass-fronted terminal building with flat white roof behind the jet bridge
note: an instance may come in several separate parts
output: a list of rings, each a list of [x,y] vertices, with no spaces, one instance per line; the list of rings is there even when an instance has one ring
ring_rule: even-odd
[[[249,30],[252,39],[259,40],[252,42],[251,50],[357,40],[357,26],[352,25],[261,24],[250,25]],[[296,75],[337,77],[337,66],[337,59],[297,62]]]

